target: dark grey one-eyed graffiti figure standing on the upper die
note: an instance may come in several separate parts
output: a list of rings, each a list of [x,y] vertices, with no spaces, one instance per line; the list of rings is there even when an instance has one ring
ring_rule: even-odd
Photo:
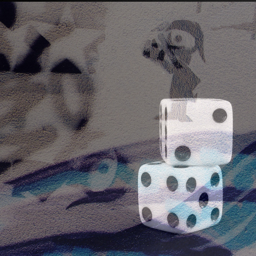
[[[158,38],[145,43],[144,57],[157,62],[173,74],[170,98],[196,98],[197,94],[194,95],[193,90],[200,83],[200,79],[189,68],[189,63],[192,54],[197,50],[205,61],[204,35],[199,24],[189,20],[175,20],[157,31],[159,31]],[[191,122],[186,116],[185,101],[174,108],[171,118],[178,118],[181,122]]]

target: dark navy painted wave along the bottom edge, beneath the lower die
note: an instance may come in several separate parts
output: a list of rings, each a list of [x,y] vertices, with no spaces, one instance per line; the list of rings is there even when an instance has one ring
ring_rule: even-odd
[[[201,246],[204,249],[200,249]],[[142,256],[231,256],[230,250],[214,245],[195,235],[178,235],[145,227],[143,224],[118,233],[76,233],[48,237],[14,246],[2,247],[1,256],[43,256],[46,253],[72,253],[74,248],[93,252],[114,251],[118,256],[125,253],[141,253]],[[71,254],[72,255],[72,254]],[[77,255],[77,254],[76,254]],[[80,254],[79,254],[80,255]],[[84,254],[81,254],[84,255]],[[86,254],[89,255],[89,254]],[[112,255],[112,254],[110,254]],[[131,254],[128,254],[131,255]]]

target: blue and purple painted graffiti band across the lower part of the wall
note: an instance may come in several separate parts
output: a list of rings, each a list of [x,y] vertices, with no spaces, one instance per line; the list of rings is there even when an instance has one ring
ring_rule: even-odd
[[[236,150],[239,147],[241,148],[240,143],[243,141],[243,137],[252,140],[255,136],[255,134],[236,136],[234,141]],[[157,145],[158,141],[150,141],[148,144]],[[88,255],[94,255],[93,253],[97,255],[98,252],[114,253],[115,255],[123,255],[122,253],[129,252],[130,255],[136,255],[134,251],[140,253],[140,255],[154,255],[159,251],[163,255],[173,255],[173,253],[187,255],[200,251],[202,255],[215,255],[214,253],[218,252],[218,255],[226,256],[232,255],[232,250],[239,250],[254,243],[256,239],[256,215],[255,211],[251,210],[256,209],[255,187],[253,185],[255,183],[254,169],[256,166],[255,142],[250,143],[243,150],[236,153],[233,160],[222,168],[223,175],[226,177],[224,180],[227,180],[229,184],[224,185],[224,215],[220,224],[189,237],[180,237],[146,229],[141,226],[140,220],[137,219],[137,174],[131,169],[131,166],[135,163],[140,165],[148,161],[145,160],[148,152],[143,151],[145,145],[144,143],[128,145],[127,147],[112,149],[111,154],[99,152],[80,159],[73,159],[9,182],[8,185],[13,186],[12,195],[9,195],[11,203],[9,205],[2,204],[0,212],[2,228],[4,228],[5,223],[3,220],[6,221],[6,216],[3,218],[6,210],[12,210],[17,216],[15,230],[9,230],[10,236],[15,236],[15,232],[19,231],[17,224],[20,225],[20,232],[24,230],[23,221],[31,228],[32,220],[36,220],[38,224],[45,221],[44,216],[47,215],[47,211],[51,214],[55,212],[55,215],[51,220],[52,229],[48,230],[48,235],[44,229],[41,229],[41,225],[38,225],[41,229],[41,236],[39,237],[44,237],[44,239],[36,240],[33,243],[27,241],[11,247],[11,249],[10,247],[3,247],[3,252],[5,252],[3,255],[17,255],[17,252],[20,251],[26,253],[29,250],[34,251],[35,247],[40,246],[42,249],[39,255],[53,253],[55,250],[60,255],[65,255],[67,252],[76,255],[76,250],[79,250],[80,253],[89,253]],[[132,151],[135,151],[136,148],[140,148],[141,154],[134,156]],[[125,160],[122,156],[126,156],[127,159]],[[110,162],[108,159],[111,158],[112,161]],[[152,155],[151,160],[157,160],[157,152],[154,156]],[[108,183],[107,189],[97,191],[93,186],[90,186],[89,180],[90,177],[93,177],[93,172],[108,173],[111,172],[113,166],[116,166],[115,175],[111,183],[108,183],[108,180],[105,181],[106,184]],[[241,168],[246,169],[247,172],[241,172]],[[104,184],[103,180],[102,184]],[[1,197],[3,197],[3,192]],[[77,215],[81,212],[81,209],[83,209],[83,212],[87,211],[85,218],[82,215]],[[31,215],[26,215],[26,212],[37,212],[37,217],[32,218]],[[104,218],[99,218],[103,213]],[[108,219],[109,214],[116,216],[114,223]],[[236,218],[233,218],[234,215],[236,215]],[[58,216],[61,216],[59,221]],[[88,221],[87,216],[90,216],[90,221]],[[127,221],[122,223],[125,216],[129,216],[134,222],[129,224],[128,229],[121,231],[125,229],[123,225],[127,224]],[[11,218],[12,216],[9,216],[9,219]],[[71,226],[63,224],[63,221],[67,221],[67,218],[75,226],[75,222],[82,224],[84,221],[86,225],[80,227],[80,232],[70,234]],[[28,219],[31,219],[31,225]],[[97,225],[94,221],[97,222]],[[6,223],[8,222],[6,221]],[[56,227],[67,230],[66,235],[54,236]],[[110,231],[110,234],[105,235],[102,228]],[[77,226],[76,230],[79,230]],[[119,232],[117,232],[118,230]],[[154,242],[152,244],[151,241],[150,244],[152,245],[145,247],[143,238],[149,234],[151,234],[151,238],[154,238]],[[90,235],[89,240],[88,235]],[[34,236],[38,237],[38,234],[35,232]],[[7,237],[10,239],[9,236]],[[138,239],[139,237],[140,239]],[[102,242],[99,244],[96,242],[97,239],[101,239]],[[120,239],[125,240],[126,245],[120,242]],[[244,242],[238,242],[240,239]],[[127,241],[130,245],[134,244],[133,247],[128,245]],[[49,242],[52,244],[51,247],[45,247],[45,244]],[[167,245],[170,242],[172,242],[171,247]],[[190,244],[191,242],[193,245]],[[186,243],[186,246],[181,248],[180,243]],[[70,246],[66,247],[67,244],[70,244]],[[115,251],[112,250],[113,248],[115,248]],[[164,253],[166,250],[168,250],[167,254]]]

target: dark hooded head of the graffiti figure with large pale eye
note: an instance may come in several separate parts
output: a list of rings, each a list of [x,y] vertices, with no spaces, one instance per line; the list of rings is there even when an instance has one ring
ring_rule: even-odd
[[[165,28],[164,40],[169,50],[169,56],[181,63],[189,64],[191,55],[198,50],[204,58],[204,35],[198,23],[190,20],[175,20]]]

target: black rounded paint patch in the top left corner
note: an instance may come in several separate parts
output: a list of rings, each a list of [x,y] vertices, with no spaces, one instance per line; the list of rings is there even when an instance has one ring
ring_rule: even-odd
[[[0,22],[10,28],[15,23],[16,7],[14,2],[0,2]]]

